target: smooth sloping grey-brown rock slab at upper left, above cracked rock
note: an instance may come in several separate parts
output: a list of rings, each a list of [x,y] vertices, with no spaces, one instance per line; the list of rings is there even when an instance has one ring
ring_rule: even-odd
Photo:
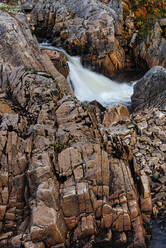
[[[41,53],[40,47],[33,38],[26,16],[23,13],[13,16],[8,12],[1,11],[0,22],[0,63],[8,63],[10,68],[24,65],[28,69],[28,67],[32,66],[36,70],[45,70],[55,77],[59,76],[62,78],[61,74],[57,73],[48,56]],[[18,33],[19,42],[16,38]],[[7,40],[10,40],[10,49],[8,48]]]

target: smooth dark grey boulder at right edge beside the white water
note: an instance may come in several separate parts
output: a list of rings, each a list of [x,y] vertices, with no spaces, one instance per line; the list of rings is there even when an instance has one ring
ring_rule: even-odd
[[[155,66],[134,85],[131,97],[134,111],[164,108],[166,105],[166,69]]]

